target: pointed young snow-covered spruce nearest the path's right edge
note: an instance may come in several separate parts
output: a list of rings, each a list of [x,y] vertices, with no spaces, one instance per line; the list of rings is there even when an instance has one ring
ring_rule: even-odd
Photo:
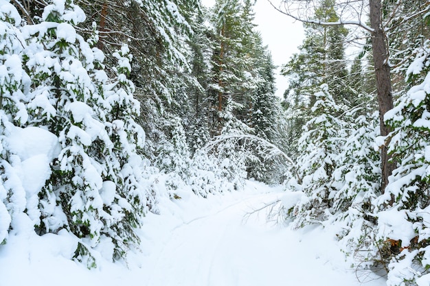
[[[297,226],[323,222],[333,212],[338,189],[332,175],[347,136],[346,124],[334,116],[341,108],[328,93],[328,86],[323,84],[315,96],[317,101],[312,108],[315,117],[304,126],[297,169],[292,172],[298,174],[300,188],[306,194],[294,210],[288,211],[295,216]]]

